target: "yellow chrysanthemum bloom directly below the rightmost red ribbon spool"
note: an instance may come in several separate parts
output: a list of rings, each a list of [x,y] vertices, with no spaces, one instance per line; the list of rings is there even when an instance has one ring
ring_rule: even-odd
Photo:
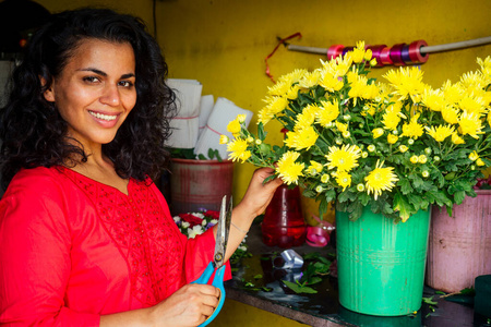
[[[418,102],[426,88],[422,83],[422,71],[416,66],[391,70],[384,77],[394,87],[394,93],[399,96],[399,100],[410,97],[414,102]]]

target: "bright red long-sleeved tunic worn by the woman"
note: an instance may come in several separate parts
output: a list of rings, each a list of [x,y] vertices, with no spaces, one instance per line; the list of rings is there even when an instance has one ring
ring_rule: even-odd
[[[61,167],[15,175],[0,202],[0,324],[98,326],[197,278],[213,232],[188,241],[149,180],[128,193]]]

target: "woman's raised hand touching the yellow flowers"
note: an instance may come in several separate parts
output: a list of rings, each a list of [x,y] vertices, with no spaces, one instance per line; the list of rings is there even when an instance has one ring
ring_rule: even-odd
[[[237,209],[242,210],[242,213],[246,213],[252,219],[263,214],[273,198],[276,189],[283,184],[282,179],[274,179],[265,184],[263,183],[274,172],[272,168],[260,168],[254,171],[248,191],[237,206]]]

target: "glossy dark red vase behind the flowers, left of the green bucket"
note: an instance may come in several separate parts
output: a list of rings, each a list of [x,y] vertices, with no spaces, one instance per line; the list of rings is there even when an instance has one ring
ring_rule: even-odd
[[[290,190],[283,184],[276,189],[261,229],[263,242],[268,246],[288,249],[306,242],[306,222],[298,186]]]

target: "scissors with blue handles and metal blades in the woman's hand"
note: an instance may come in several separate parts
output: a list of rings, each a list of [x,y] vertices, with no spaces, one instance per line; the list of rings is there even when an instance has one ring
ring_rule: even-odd
[[[212,284],[220,290],[220,299],[213,314],[200,326],[206,326],[218,315],[225,302],[224,274],[225,274],[225,251],[227,250],[228,232],[230,230],[232,199],[227,207],[227,195],[221,199],[220,216],[218,218],[218,229],[216,232],[215,254],[213,261],[208,264],[203,274],[192,283],[208,283],[209,278],[215,271]]]

